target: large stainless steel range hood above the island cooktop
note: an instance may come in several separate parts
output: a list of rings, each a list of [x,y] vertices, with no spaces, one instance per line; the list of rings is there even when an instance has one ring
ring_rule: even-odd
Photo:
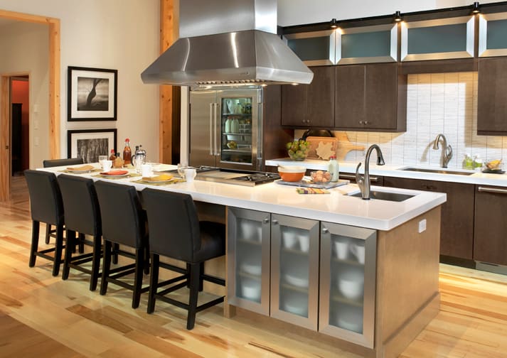
[[[142,72],[144,83],[308,84],[314,77],[276,35],[276,0],[183,0],[179,21],[180,38]]]

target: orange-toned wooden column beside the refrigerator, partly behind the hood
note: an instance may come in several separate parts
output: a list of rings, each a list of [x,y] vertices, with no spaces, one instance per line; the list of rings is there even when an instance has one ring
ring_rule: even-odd
[[[178,0],[160,0],[160,53],[178,39]],[[159,161],[173,163],[179,155],[179,87],[161,85]],[[175,153],[176,152],[176,153]]]

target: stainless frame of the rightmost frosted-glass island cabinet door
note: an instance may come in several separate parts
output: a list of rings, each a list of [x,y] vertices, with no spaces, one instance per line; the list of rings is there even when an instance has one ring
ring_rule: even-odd
[[[346,237],[352,240],[364,240],[365,261],[364,294],[363,294],[363,327],[362,333],[346,330],[331,324],[331,262],[338,260],[340,267],[361,266],[361,263],[351,259],[337,259],[336,249],[331,243],[332,236]],[[336,238],[335,238],[336,239]],[[361,227],[351,227],[342,224],[321,222],[321,259],[320,259],[320,298],[319,298],[319,332],[332,335],[343,340],[354,342],[364,347],[374,347],[375,334],[375,286],[376,286],[376,254],[377,232]],[[345,270],[345,268],[342,268]],[[339,275],[341,272],[334,272]],[[343,305],[348,304],[346,300]],[[361,307],[361,306],[360,306]]]

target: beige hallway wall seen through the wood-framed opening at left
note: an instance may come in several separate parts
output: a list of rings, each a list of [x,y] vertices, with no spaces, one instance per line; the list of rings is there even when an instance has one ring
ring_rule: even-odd
[[[43,159],[49,158],[48,39],[46,25],[14,23],[0,28],[0,73],[30,76],[31,168],[41,166]]]

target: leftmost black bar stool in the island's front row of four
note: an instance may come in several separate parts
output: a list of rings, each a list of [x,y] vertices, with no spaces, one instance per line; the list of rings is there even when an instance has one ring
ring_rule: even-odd
[[[30,208],[32,216],[32,242],[28,266],[36,264],[37,256],[53,261],[53,276],[58,276],[62,262],[63,250],[63,202],[58,181],[54,173],[42,170],[25,170],[26,183],[30,194]],[[38,251],[38,237],[40,223],[55,225],[55,247]],[[48,255],[54,252],[54,256]]]

